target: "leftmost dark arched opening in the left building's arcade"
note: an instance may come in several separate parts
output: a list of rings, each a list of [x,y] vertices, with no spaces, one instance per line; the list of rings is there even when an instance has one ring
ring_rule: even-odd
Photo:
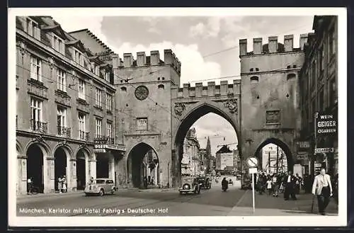
[[[27,178],[32,178],[33,186],[44,193],[44,154],[39,144],[31,144],[26,152]]]

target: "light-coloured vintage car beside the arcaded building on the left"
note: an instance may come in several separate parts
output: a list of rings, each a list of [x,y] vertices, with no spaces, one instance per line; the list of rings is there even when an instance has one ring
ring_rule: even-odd
[[[117,188],[111,178],[96,178],[85,188],[85,195],[105,195],[107,193],[114,194]]]

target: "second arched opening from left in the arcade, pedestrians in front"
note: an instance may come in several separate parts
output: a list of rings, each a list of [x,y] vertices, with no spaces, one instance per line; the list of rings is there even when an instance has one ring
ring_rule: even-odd
[[[58,180],[65,176],[67,179],[67,165],[68,155],[64,147],[58,147],[54,153],[54,177],[55,177],[55,191],[59,191]],[[67,180],[67,183],[69,181]]]

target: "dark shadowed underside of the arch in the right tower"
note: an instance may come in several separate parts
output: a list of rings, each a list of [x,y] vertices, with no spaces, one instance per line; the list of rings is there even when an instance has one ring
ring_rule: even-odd
[[[280,147],[282,152],[284,152],[285,157],[287,159],[287,171],[293,171],[294,170],[294,159],[293,155],[291,152],[290,147],[285,143],[282,142],[282,140],[279,140],[277,138],[268,138],[267,140],[264,140],[261,144],[258,145],[256,152],[254,153],[254,157],[257,157],[257,159],[261,162],[260,166],[262,166],[262,160],[263,160],[263,154],[262,154],[262,149],[268,144],[275,144],[276,146]],[[281,158],[280,156],[278,157],[279,159]],[[275,161],[276,162],[276,161]],[[278,161],[279,163],[279,161]]]

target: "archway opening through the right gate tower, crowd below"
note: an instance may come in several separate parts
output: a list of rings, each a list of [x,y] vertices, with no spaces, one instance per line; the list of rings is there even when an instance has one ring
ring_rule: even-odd
[[[269,149],[269,147],[268,148],[266,147],[268,144],[274,144],[275,147],[274,148],[272,147],[272,149]],[[268,150],[268,153],[269,153],[268,157],[266,157],[266,155],[263,155],[263,152],[265,152],[265,150]],[[275,151],[275,156],[271,156],[270,151]],[[278,159],[276,159],[277,155],[278,155]],[[268,138],[267,140],[262,142],[257,147],[256,152],[254,153],[254,156],[257,157],[259,161],[261,161],[260,169],[262,167],[264,169],[265,167],[269,166],[269,165],[263,166],[263,165],[265,165],[262,163],[264,156],[266,158],[265,163],[270,163],[271,166],[276,167],[276,163],[278,161],[278,172],[284,171],[285,163],[287,164],[287,166],[286,166],[287,171],[293,171],[293,169],[294,169],[294,159],[292,157],[292,152],[291,152],[289,146],[285,142],[282,142],[281,140],[278,140],[276,138]],[[286,161],[285,161],[285,159],[286,159]],[[282,168],[282,169],[280,169],[280,168]],[[271,171],[273,171],[273,170],[271,170]],[[276,169],[275,169],[275,171],[276,171]]]

